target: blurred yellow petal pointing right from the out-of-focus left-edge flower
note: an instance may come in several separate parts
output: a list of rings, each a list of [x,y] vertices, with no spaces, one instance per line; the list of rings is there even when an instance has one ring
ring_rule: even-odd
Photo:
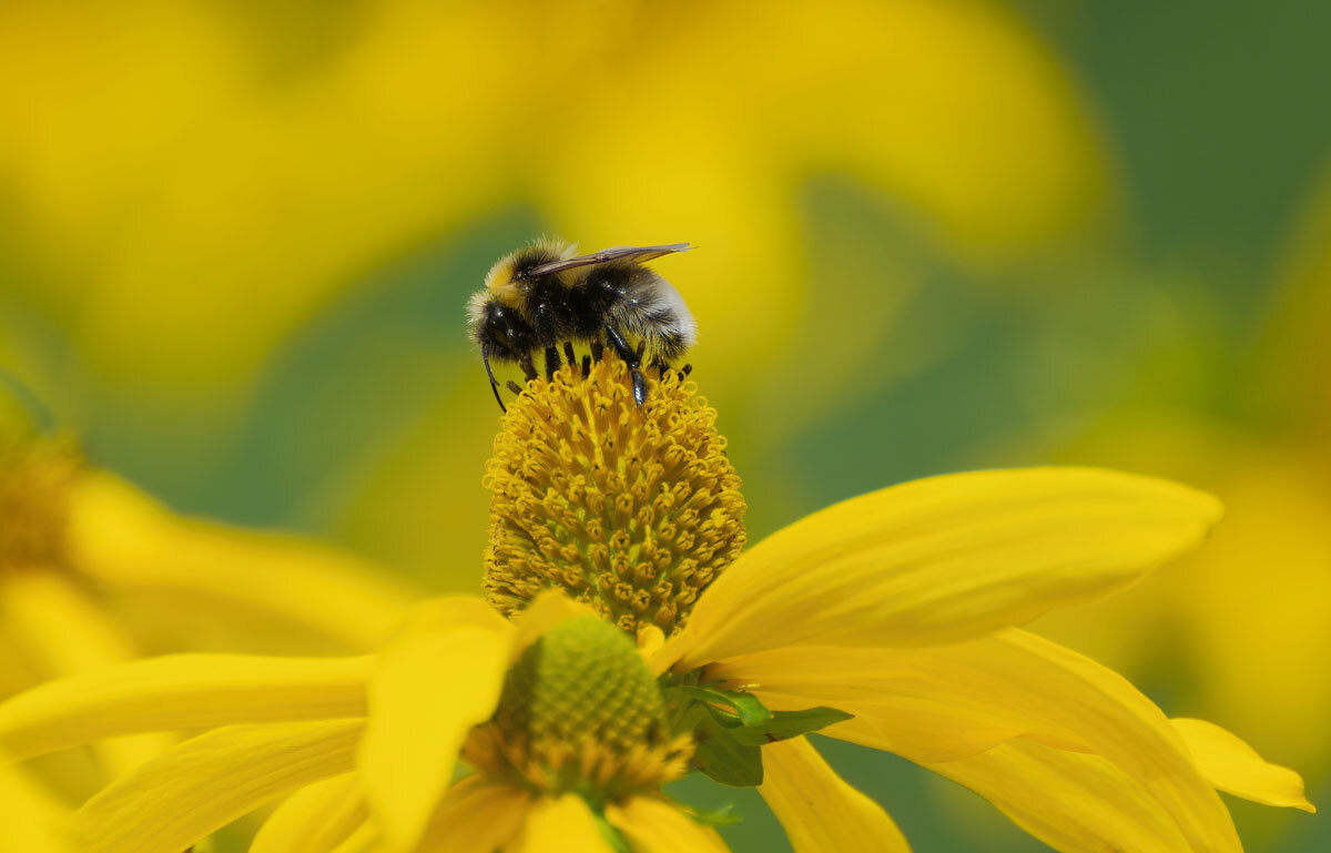
[[[79,570],[110,587],[202,594],[354,651],[377,648],[414,597],[313,542],[181,519],[106,472],[71,491],[69,546]]]

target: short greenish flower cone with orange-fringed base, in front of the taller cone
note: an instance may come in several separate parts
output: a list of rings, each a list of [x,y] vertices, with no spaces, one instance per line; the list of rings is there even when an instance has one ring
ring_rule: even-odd
[[[656,679],[634,641],[598,617],[571,619],[528,647],[504,679],[494,719],[465,757],[490,778],[546,794],[614,801],[687,770]]]

